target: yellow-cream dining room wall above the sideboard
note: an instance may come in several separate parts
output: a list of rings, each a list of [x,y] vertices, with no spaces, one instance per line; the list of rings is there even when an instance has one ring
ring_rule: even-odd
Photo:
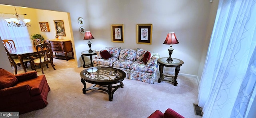
[[[31,27],[28,28],[28,33],[34,35],[36,33],[41,34],[45,39],[54,39],[56,35],[54,20],[63,20],[66,36],[60,36],[59,39],[72,39],[70,33],[70,25],[68,21],[68,13],[56,12],[50,10],[39,10],[34,8],[22,8],[16,6],[18,14],[27,14],[24,16],[25,19],[30,19]],[[14,6],[3,6],[0,5],[1,13],[15,13]],[[40,29],[39,22],[48,22],[50,32],[43,32]]]

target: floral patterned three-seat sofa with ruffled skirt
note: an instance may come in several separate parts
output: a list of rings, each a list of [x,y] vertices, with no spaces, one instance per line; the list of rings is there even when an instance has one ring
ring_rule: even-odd
[[[111,55],[108,59],[103,59],[100,52],[108,51]],[[143,58],[146,52],[151,56],[144,63]],[[157,76],[157,59],[160,58],[158,53],[146,51],[144,49],[121,49],[121,47],[106,47],[105,49],[96,50],[97,55],[92,60],[95,66],[114,67],[126,73],[126,78],[142,81],[146,83],[155,83]]]

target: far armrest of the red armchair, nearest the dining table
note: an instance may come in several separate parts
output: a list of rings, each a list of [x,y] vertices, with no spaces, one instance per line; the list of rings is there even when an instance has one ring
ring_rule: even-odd
[[[36,71],[29,71],[29,72],[26,72],[26,73],[17,74],[17,75],[15,75],[15,77],[18,79],[19,82],[22,82],[22,81],[34,79],[38,76],[37,76]]]

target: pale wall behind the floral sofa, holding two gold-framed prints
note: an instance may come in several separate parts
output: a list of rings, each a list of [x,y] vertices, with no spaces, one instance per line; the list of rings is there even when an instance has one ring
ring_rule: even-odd
[[[142,48],[169,57],[170,45],[163,43],[175,32],[180,43],[172,46],[172,57],[184,61],[180,73],[198,75],[211,6],[208,0],[88,0],[92,48]],[[124,43],[112,42],[111,24],[124,24]],[[136,24],[153,25],[152,45],[136,43]]]

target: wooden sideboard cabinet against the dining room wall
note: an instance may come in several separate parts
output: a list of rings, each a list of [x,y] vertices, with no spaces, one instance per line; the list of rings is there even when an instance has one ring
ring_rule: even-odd
[[[50,39],[52,45],[52,51],[55,53],[54,58],[56,59],[74,59],[74,52],[72,48],[72,42],[70,40],[55,40]],[[58,55],[58,53],[64,53],[63,55]],[[69,57],[67,53],[72,53],[72,57]]]

